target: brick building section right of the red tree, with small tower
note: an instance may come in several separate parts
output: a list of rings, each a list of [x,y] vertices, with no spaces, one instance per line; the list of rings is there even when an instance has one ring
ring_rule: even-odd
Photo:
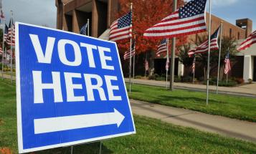
[[[225,21],[224,19],[221,19],[217,16],[212,15],[212,33],[215,32],[215,30],[219,27],[221,22],[223,21],[223,31],[222,35],[223,37],[230,37],[237,39],[237,44],[240,44],[242,40],[247,38],[252,33],[252,20],[250,19],[237,19],[236,25],[229,23],[228,21]],[[207,27],[209,27],[209,14],[207,13]],[[194,34],[189,36],[189,40],[193,40],[191,42],[196,42],[198,39],[198,36],[207,35],[207,32],[200,33],[200,34]],[[255,62],[256,64],[256,62]],[[252,65],[255,65],[254,63]],[[196,64],[198,70],[203,70],[203,66],[201,64]],[[182,66],[182,65],[181,65]],[[211,66],[214,68],[211,73],[212,76],[217,75],[217,64],[213,64]],[[254,79],[256,81],[256,77],[253,78],[252,76],[249,77],[247,72],[249,71],[249,66],[247,63],[245,63],[245,57],[243,54],[238,53],[237,57],[235,57],[234,61],[232,62],[232,70],[229,72],[229,77],[237,77],[237,78],[243,78],[245,81],[248,79]],[[255,67],[256,68],[256,67]],[[191,72],[189,67],[181,67],[181,74],[188,74],[188,72]],[[252,70],[252,74],[256,74],[256,70]],[[204,76],[204,71],[197,71],[196,72],[196,78]]]

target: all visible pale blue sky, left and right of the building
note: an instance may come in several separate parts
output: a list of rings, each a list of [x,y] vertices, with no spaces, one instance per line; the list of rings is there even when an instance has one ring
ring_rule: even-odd
[[[55,0],[2,0],[2,6],[7,22],[12,10],[14,21],[56,28]],[[212,0],[212,14],[232,24],[235,24],[236,19],[250,18],[253,21],[253,29],[256,30],[255,6],[256,0]]]

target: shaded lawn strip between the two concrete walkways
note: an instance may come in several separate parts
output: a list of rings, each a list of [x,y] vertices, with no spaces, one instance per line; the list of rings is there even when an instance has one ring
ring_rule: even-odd
[[[206,92],[191,92],[187,90],[174,90],[171,92],[164,87],[147,85],[132,85],[131,90],[129,97],[134,100],[256,122],[255,98],[210,93],[209,105],[206,105]]]

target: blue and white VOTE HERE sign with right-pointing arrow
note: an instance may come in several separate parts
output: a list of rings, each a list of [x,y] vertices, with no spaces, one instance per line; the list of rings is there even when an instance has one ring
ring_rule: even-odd
[[[136,133],[115,42],[15,26],[19,153]]]

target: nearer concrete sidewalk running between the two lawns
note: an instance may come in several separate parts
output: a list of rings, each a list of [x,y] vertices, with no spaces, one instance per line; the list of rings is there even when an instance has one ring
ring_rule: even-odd
[[[133,114],[136,115],[256,143],[256,122],[235,120],[137,100],[130,100],[130,102]]]

